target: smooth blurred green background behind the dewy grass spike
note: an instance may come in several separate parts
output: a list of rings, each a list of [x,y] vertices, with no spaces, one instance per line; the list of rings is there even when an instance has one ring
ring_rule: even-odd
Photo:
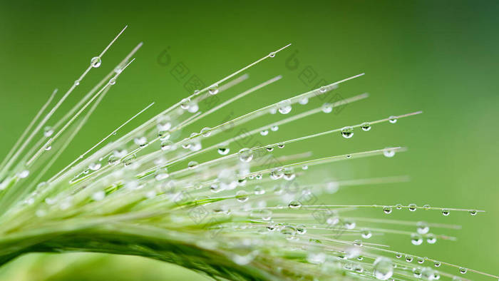
[[[367,91],[371,93],[368,100],[346,107],[341,114],[297,123],[292,131],[282,130],[280,136],[292,138],[424,111],[395,125],[356,133],[348,141],[320,138],[307,145],[321,147],[318,155],[406,145],[408,152],[390,161],[373,158],[336,165],[339,175],[335,176],[410,175],[410,183],[340,192],[337,202],[428,203],[487,210],[473,218],[465,213],[451,213],[446,218],[433,213],[423,218],[463,225],[462,230],[449,233],[458,236],[457,242],[441,241],[431,247],[386,242],[393,249],[497,275],[498,14],[499,1],[1,1],[0,155],[8,152],[53,88],[66,91],[91,57],[125,24],[128,30],[103,56],[103,66],[90,74],[64,108],[78,101],[83,90],[143,41],[138,59],[106,96],[58,168],[148,103],[156,102],[131,126],[187,96],[186,80],[178,81],[170,73],[178,63],[189,68],[188,77],[195,75],[208,84],[292,43],[275,58],[252,68],[250,80],[240,89],[279,74],[284,76],[282,81],[231,110],[239,115],[307,91],[320,79],[333,82],[365,72],[366,76],[341,86],[339,93],[348,97]],[[317,73],[313,83],[300,79],[305,68]],[[212,125],[220,122],[215,119],[207,121]],[[417,214],[401,218],[420,220]],[[148,276],[180,280],[184,274],[194,274],[143,258],[98,258],[106,262],[68,265],[73,268],[69,272],[83,278],[73,280],[86,280],[82,274],[103,279],[103,268],[115,271],[114,280],[120,280],[119,276],[130,280],[126,278],[132,275],[124,271],[127,267],[143,272],[144,280],[151,280]],[[21,280],[9,272],[29,259],[36,257],[23,257],[0,270],[7,276],[2,279]],[[43,280],[44,271],[36,268],[27,280]]]

